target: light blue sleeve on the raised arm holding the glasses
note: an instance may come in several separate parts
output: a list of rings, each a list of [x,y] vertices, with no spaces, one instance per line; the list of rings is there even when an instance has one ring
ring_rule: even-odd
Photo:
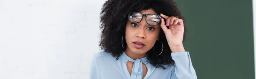
[[[171,79],[197,79],[189,52],[175,52],[171,54],[172,59],[175,61]]]

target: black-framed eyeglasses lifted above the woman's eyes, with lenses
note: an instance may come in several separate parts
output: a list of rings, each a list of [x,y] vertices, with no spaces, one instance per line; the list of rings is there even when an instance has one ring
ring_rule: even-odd
[[[140,12],[131,12],[128,15],[128,19],[131,23],[140,23],[143,19],[143,16],[145,16],[146,23],[148,25],[158,25],[160,23],[160,19],[162,16],[157,14],[142,14]]]

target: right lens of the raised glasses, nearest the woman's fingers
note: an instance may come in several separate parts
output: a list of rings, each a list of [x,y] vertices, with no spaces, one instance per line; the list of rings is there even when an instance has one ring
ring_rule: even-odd
[[[160,17],[155,14],[149,14],[147,16],[147,23],[149,25],[157,25],[160,22]]]

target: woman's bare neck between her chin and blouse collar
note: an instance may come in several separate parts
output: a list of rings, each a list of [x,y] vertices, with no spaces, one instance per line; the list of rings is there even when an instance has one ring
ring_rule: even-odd
[[[144,58],[147,53],[137,54],[137,53],[132,52],[129,48],[126,48],[126,49],[125,49],[125,54],[126,54],[127,56],[129,56],[131,59],[136,60],[136,59],[142,59],[142,58]]]

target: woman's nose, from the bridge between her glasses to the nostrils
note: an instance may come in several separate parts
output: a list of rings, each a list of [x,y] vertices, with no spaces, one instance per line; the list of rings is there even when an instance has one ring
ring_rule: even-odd
[[[141,25],[141,28],[139,28],[139,32],[136,34],[136,37],[145,39],[146,38],[146,35],[145,35],[146,28],[145,27],[147,27],[148,24],[146,23],[144,16],[143,16],[143,20],[140,22],[140,25]]]

